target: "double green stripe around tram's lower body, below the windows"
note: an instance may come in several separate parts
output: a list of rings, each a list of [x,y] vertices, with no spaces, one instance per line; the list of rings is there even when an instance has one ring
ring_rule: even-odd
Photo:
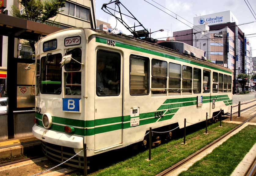
[[[212,102],[212,99],[216,99],[216,101],[223,101],[223,103],[228,106],[232,104],[232,100],[229,100],[229,97],[227,94],[225,95],[216,95],[216,96],[203,96],[203,103],[209,103]],[[164,121],[171,119],[175,113],[179,110],[180,107],[185,106],[192,106],[196,105],[196,99],[197,97],[188,97],[188,98],[176,98],[176,99],[167,99],[164,101],[163,105],[161,105],[157,111],[154,112],[148,112],[148,113],[141,113],[140,114],[140,125],[147,125],[150,123],[155,123],[156,121]],[[160,111],[159,111],[160,110]],[[163,117],[154,118],[156,112],[161,112],[161,110],[164,111]],[[42,114],[35,113],[35,117],[42,120]],[[53,123],[63,124],[53,124],[51,126],[51,130],[58,131],[58,132],[64,132],[64,125],[70,125],[70,126],[76,126],[76,127],[94,127],[89,129],[82,129],[82,128],[75,128],[75,132],[71,134],[75,135],[81,135],[81,136],[91,136],[95,134],[100,134],[104,132],[114,131],[114,130],[120,130],[125,128],[131,128],[130,123],[127,121],[130,121],[130,115],[123,116],[123,122],[122,123],[122,116],[119,117],[111,117],[111,118],[103,118],[103,119],[96,119],[96,120],[77,120],[77,119],[70,119],[70,118],[62,118],[62,117],[56,117],[52,116]],[[147,118],[147,119],[146,119]],[[158,120],[159,119],[159,120]],[[113,124],[118,123],[119,124]],[[38,125],[43,127],[42,121],[38,121]],[[101,127],[97,127],[99,125],[105,125]]]

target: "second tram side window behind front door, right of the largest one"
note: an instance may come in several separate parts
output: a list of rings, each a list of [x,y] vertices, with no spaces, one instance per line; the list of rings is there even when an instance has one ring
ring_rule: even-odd
[[[166,94],[167,62],[152,59],[152,94]]]

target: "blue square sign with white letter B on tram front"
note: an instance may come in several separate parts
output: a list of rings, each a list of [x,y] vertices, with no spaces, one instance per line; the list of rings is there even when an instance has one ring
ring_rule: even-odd
[[[80,98],[63,98],[62,111],[80,112]]]

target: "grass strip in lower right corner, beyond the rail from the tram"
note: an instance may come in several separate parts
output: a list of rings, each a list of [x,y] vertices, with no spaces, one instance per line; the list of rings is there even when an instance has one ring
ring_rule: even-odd
[[[248,125],[179,176],[229,176],[256,142],[256,127]]]

